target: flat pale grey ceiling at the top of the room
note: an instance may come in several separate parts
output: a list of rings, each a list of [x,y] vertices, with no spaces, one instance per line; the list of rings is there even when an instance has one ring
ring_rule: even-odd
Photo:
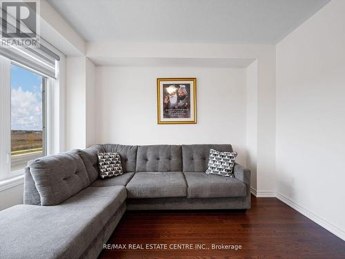
[[[47,0],[86,41],[276,44],[330,0]]]

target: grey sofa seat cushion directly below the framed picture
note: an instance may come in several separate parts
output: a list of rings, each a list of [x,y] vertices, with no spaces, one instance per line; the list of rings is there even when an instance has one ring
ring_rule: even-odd
[[[181,172],[135,173],[127,184],[128,198],[186,197],[186,181]]]

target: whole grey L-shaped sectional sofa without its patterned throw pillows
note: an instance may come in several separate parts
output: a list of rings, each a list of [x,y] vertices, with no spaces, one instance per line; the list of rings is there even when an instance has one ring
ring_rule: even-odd
[[[41,157],[25,171],[24,204],[0,212],[0,258],[97,258],[126,209],[250,209],[250,171],[205,173],[229,144],[99,144]],[[124,174],[98,178],[97,152],[119,152]]]

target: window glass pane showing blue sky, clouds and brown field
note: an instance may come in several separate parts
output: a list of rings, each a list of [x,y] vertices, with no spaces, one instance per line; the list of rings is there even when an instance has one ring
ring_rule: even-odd
[[[32,70],[11,64],[11,164],[21,173],[28,161],[46,155],[46,81]]]

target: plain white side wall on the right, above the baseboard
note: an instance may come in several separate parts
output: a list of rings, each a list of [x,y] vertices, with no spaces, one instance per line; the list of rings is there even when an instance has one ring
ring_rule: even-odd
[[[345,1],[277,44],[277,193],[345,240]]]

